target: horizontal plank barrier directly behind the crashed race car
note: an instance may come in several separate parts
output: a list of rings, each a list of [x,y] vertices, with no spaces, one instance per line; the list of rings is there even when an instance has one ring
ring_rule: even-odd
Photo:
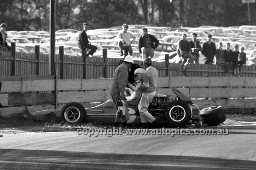
[[[0,78],[0,103],[8,107],[51,105],[77,102],[89,104],[111,99],[112,79],[56,79],[55,76]],[[255,108],[256,80],[250,77],[159,77],[157,94],[174,99],[177,88],[201,109],[221,105],[224,108]],[[0,115],[3,114],[0,108]],[[22,111],[22,109],[19,109]],[[34,109],[36,111],[36,109]]]

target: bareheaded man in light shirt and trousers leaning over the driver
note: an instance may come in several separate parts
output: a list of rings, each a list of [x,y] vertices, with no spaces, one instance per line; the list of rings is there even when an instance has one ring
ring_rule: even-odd
[[[142,89],[141,99],[138,104],[140,119],[142,128],[157,128],[159,126],[157,119],[147,109],[156,94],[158,71],[152,67],[150,58],[146,58],[143,64],[146,71],[143,74],[143,84],[140,87]]]

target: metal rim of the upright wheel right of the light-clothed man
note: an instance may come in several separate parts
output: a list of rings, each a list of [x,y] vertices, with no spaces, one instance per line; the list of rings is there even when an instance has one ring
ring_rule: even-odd
[[[170,108],[169,117],[175,122],[181,122],[186,117],[186,111],[182,106],[173,106]]]

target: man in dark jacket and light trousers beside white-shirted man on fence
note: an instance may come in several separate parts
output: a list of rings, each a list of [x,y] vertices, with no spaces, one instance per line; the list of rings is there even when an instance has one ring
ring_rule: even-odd
[[[159,45],[158,39],[151,34],[147,34],[147,29],[142,29],[142,36],[140,36],[139,39],[139,52],[142,55],[143,59],[148,58],[149,56],[151,58],[154,57],[154,51]]]

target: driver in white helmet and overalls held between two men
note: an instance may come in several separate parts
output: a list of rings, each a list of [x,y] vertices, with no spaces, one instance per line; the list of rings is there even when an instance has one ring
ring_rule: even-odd
[[[130,94],[129,96],[126,96],[126,101],[127,102],[133,102],[136,99],[140,99],[141,94],[142,94],[142,90],[140,89],[140,86],[143,83],[143,74],[144,74],[145,70],[143,68],[137,68],[134,71],[134,80],[135,80],[135,84],[132,85],[131,83],[128,83],[127,86],[129,88],[126,88],[127,90],[129,90]]]

